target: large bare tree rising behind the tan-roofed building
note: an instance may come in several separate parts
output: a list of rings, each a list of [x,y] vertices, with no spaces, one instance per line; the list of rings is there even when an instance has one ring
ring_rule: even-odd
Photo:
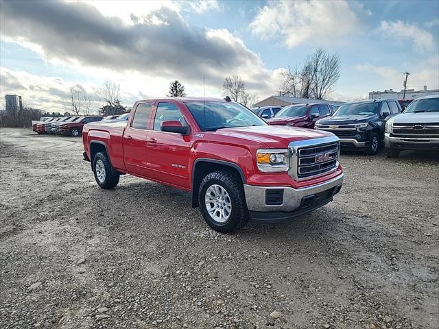
[[[340,78],[340,58],[336,54],[317,49],[307,56],[305,64],[293,69],[288,66],[281,73],[280,94],[289,97],[323,99],[331,93]]]

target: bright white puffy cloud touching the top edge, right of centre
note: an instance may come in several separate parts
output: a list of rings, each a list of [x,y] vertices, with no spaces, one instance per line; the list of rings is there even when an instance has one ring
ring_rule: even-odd
[[[364,9],[347,1],[270,1],[259,10],[250,29],[262,38],[280,36],[289,48],[305,42],[333,43],[358,31],[355,11]]]

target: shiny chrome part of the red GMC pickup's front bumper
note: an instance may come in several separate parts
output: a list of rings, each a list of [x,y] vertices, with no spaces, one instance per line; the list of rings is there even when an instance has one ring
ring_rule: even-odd
[[[344,174],[341,174],[327,182],[305,188],[292,188],[286,186],[253,186],[244,184],[247,208],[250,210],[250,212],[292,212],[300,208],[302,205],[302,199],[304,199],[304,197],[310,197],[331,189],[335,191],[334,194],[338,193],[342,187],[343,176]],[[282,204],[266,204],[266,191],[268,190],[283,190]]]

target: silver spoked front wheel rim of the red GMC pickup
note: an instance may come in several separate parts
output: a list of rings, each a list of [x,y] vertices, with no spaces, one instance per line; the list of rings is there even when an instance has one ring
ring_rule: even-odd
[[[232,214],[232,202],[226,188],[213,184],[207,188],[204,195],[207,212],[217,223],[225,223]]]

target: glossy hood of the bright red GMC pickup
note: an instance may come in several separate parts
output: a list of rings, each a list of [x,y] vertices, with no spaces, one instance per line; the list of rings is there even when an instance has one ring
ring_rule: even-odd
[[[302,141],[311,138],[322,138],[333,136],[331,132],[323,132],[321,130],[311,130],[296,127],[287,127],[282,125],[258,125],[254,127],[236,127],[223,128],[216,132],[209,132],[214,136],[227,136],[230,138],[237,138],[241,143],[247,145],[248,142],[259,144],[264,147],[278,147],[285,148],[290,142]],[[240,143],[240,142],[236,142]]]

